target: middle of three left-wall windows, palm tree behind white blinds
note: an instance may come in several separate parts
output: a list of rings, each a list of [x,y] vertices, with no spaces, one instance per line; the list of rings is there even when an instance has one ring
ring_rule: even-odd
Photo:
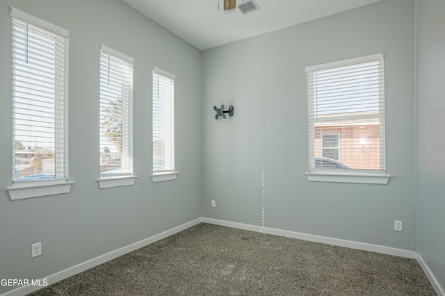
[[[133,58],[102,45],[100,173],[133,174]]]

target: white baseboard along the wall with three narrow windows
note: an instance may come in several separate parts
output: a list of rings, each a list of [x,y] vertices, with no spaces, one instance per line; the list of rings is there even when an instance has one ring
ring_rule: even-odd
[[[168,231],[164,231],[162,233],[156,234],[155,236],[145,238],[144,240],[134,242],[133,244],[127,245],[126,247],[122,247],[120,249],[116,249],[115,251],[109,252],[102,256],[92,258],[91,260],[88,260],[86,262],[75,265],[72,268],[67,268],[66,270],[62,270],[55,274],[51,274],[49,277],[46,277],[45,279],[47,279],[48,285],[51,285],[52,283],[56,283],[58,281],[66,279],[67,277],[71,277],[74,274],[78,274],[79,272],[83,272],[90,268],[94,268],[97,265],[100,265],[100,264],[110,261],[114,258],[117,258],[117,257],[127,254],[129,252],[132,252],[136,249],[140,249],[141,247],[145,247],[146,245],[152,244],[153,242],[156,242],[163,238],[167,238],[168,236],[172,236],[175,233],[181,232],[181,231],[188,229],[189,227],[192,227],[196,224],[200,224],[201,222],[202,222],[202,218],[192,220],[185,224],[179,225],[178,227],[172,228]],[[7,293],[4,293],[1,296],[23,296],[23,295],[26,295],[29,293],[33,293],[34,291],[39,290],[41,288],[43,288],[43,287],[42,286],[22,286],[15,290],[11,290]]]

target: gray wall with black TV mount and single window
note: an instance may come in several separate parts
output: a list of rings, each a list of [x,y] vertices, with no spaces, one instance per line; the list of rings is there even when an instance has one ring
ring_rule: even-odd
[[[247,16],[246,16],[247,17]],[[309,182],[305,66],[385,52],[389,184]],[[416,249],[414,0],[382,1],[204,51],[205,217]],[[213,105],[234,105],[215,120]],[[216,208],[211,208],[211,199]],[[403,220],[402,232],[394,220]]]

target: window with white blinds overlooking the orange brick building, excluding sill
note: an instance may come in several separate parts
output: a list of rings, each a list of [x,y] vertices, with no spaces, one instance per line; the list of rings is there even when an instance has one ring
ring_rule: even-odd
[[[382,54],[306,68],[309,172],[385,172]]]

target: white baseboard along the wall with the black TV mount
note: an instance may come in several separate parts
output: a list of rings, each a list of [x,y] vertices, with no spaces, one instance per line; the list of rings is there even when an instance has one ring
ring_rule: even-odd
[[[414,251],[406,250],[406,249],[397,249],[394,247],[385,247],[380,245],[371,245],[365,242],[354,242],[352,240],[341,240],[339,238],[328,238],[326,236],[314,236],[312,234],[300,233],[294,231],[286,231],[280,229],[273,229],[269,227],[259,227],[249,224],[241,224],[236,222],[228,222],[223,220],[216,220],[210,218],[202,218],[202,222],[209,224],[217,224],[227,227],[233,227],[238,229],[245,229],[250,231],[261,231],[262,233],[273,234],[275,236],[285,236],[287,238],[297,238],[299,240],[309,240],[312,242],[321,242],[327,245],[335,245],[339,247],[348,247],[351,249],[361,249],[369,252],[376,252],[387,255],[394,255],[405,258],[417,258],[417,254]]]

